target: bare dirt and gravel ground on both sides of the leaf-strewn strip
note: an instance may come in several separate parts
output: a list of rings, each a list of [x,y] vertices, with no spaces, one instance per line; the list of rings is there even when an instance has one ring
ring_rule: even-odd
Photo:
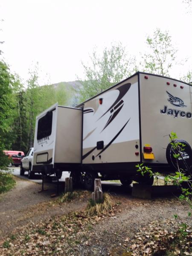
[[[0,196],[0,238],[2,241],[4,237],[10,236],[15,229],[19,230],[23,225],[42,223],[53,216],[63,216],[84,209],[90,196],[86,194],[80,200],[75,199],[72,202],[58,205],[54,203],[55,198],[50,198],[50,195],[55,192],[54,183],[46,185],[47,191],[38,193],[41,189],[40,184],[19,178],[15,180],[16,187]],[[138,233],[148,230],[151,223],[154,223],[154,230],[158,231],[160,225],[161,229],[172,231],[176,223],[174,214],[179,216],[178,221],[191,223],[191,218],[187,217],[189,207],[182,205],[174,195],[146,200],[133,198],[130,193],[131,188],[126,191],[120,185],[102,185],[102,188],[110,193],[112,200],[118,205],[118,211],[104,218],[96,217],[96,224],[86,230],[72,233],[72,235],[70,235],[72,228],[69,228],[67,242],[62,242],[63,245],[67,243],[64,252],[51,255],[132,255],[125,254],[131,245],[131,239],[137,238]],[[60,192],[62,189],[64,189],[64,184],[61,183]],[[74,241],[78,242],[74,243]],[[45,255],[38,252],[30,253],[28,255]]]

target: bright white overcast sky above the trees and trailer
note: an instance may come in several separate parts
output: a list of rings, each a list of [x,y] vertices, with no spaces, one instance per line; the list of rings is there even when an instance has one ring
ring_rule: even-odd
[[[41,83],[47,73],[52,83],[83,78],[81,60],[114,41],[139,58],[157,27],[169,30],[178,59],[189,58],[172,76],[192,69],[192,12],[182,0],[0,0],[0,18],[3,58],[23,79],[36,61]]]

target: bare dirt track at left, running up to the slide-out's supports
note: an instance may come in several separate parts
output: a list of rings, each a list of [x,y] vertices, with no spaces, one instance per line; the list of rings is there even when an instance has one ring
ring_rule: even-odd
[[[39,193],[41,184],[15,177],[16,186],[6,194],[0,195],[0,238],[11,233],[15,228],[29,222],[38,223],[52,216],[67,214],[82,209],[84,201],[74,201],[69,205],[54,205],[56,198],[50,196],[56,192],[55,183],[47,183]],[[60,183],[60,193],[64,191],[64,183]]]

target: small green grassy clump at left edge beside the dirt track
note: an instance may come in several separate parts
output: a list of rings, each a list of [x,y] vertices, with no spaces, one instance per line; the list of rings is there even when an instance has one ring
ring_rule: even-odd
[[[0,172],[0,194],[9,191],[14,186],[13,175],[8,172]]]

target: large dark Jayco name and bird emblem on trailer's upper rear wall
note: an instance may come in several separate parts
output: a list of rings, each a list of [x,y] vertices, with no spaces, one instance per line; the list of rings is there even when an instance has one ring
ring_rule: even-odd
[[[182,99],[173,96],[168,91],[166,91],[166,93],[169,96],[169,98],[167,100],[172,105],[174,105],[175,107],[180,107],[180,108],[185,108],[186,107],[186,105],[184,105],[184,102],[183,102]],[[178,110],[178,109],[168,108],[168,106],[166,106],[166,105],[164,106],[163,109],[160,110],[160,113],[161,114],[167,114],[168,116],[174,116],[175,118],[177,118],[178,116],[186,117],[186,118],[191,118],[192,117],[191,112],[186,112],[186,111],[181,111],[181,110]]]

